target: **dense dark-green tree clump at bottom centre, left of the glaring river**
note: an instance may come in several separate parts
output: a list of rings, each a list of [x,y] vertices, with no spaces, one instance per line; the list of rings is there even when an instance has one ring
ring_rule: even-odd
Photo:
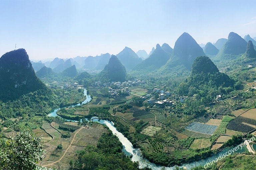
[[[132,162],[122,152],[122,144],[119,139],[109,130],[103,133],[98,141],[97,147],[86,146],[84,150],[77,152],[77,160],[71,169],[86,170],[138,170],[139,164]]]

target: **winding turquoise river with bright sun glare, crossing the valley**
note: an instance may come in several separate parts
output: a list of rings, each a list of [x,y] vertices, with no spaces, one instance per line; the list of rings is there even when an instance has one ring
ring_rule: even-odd
[[[86,104],[89,101],[91,101],[91,96],[87,95],[87,90],[84,90],[84,95],[86,96],[86,100],[84,100],[82,102],[82,104]],[[77,104],[77,105],[73,105],[72,107],[74,107],[74,106],[80,106],[80,103]],[[53,110],[50,114],[48,114],[48,116],[50,116],[50,117],[57,116],[56,112],[59,109],[60,108]],[[123,144],[123,150],[122,151],[126,155],[132,155],[131,160],[132,161],[138,161],[139,165],[140,165],[140,168],[149,167],[153,170],[162,170],[163,168],[165,168],[165,170],[175,169],[176,166],[164,167],[164,166],[156,165],[154,163],[149,162],[145,157],[143,157],[143,155],[141,154],[141,151],[139,149],[133,148],[132,143],[122,133],[117,131],[117,129],[114,127],[113,122],[109,122],[107,120],[99,120],[97,117],[92,117],[90,119],[90,121],[98,122],[100,124],[106,125],[112,131],[112,133],[118,137],[120,142]],[[237,151],[234,151],[234,152],[241,153],[241,152],[247,151],[246,145],[243,145],[242,147],[239,147],[239,148],[241,148],[241,149],[238,149]],[[178,167],[180,167],[180,168],[181,167],[187,167],[187,169],[191,169],[193,167],[200,166],[200,165],[204,166],[204,165],[206,165],[206,163],[210,163],[212,160],[216,160],[216,158],[218,159],[218,157],[220,155],[225,154],[226,152],[230,151],[231,149],[232,148],[225,148],[221,152],[219,152],[217,154],[214,154],[214,155],[212,155],[208,158],[201,159],[201,160],[198,160],[198,161],[193,161],[193,162],[190,162],[190,163],[185,163],[185,164],[182,164],[181,166],[178,166]]]

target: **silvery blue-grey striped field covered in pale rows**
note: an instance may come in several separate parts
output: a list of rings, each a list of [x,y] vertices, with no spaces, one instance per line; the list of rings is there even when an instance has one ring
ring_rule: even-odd
[[[197,122],[193,122],[185,127],[185,129],[187,130],[191,130],[199,133],[205,133],[205,134],[213,134],[217,128],[218,126],[215,126],[215,125],[206,125],[206,124],[201,124]]]

